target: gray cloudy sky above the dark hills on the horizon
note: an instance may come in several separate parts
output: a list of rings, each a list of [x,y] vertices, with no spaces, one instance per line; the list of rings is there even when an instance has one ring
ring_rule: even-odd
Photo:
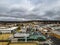
[[[60,0],[0,0],[0,20],[60,20]]]

